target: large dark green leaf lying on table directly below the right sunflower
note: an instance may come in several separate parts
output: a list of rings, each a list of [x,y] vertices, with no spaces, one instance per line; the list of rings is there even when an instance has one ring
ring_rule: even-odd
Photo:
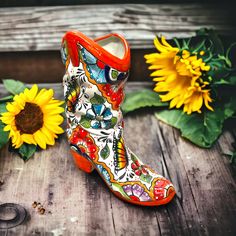
[[[229,114],[216,106],[215,111],[187,115],[181,110],[164,110],[155,113],[156,117],[180,130],[182,136],[194,144],[210,148],[222,132],[223,123]]]

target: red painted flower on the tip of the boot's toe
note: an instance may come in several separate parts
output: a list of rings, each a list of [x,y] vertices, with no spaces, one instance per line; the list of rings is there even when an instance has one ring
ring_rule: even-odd
[[[163,198],[166,198],[170,192],[171,189],[173,189],[171,187],[171,182],[167,179],[157,179],[155,186],[154,186],[154,198],[156,200],[160,200]]]

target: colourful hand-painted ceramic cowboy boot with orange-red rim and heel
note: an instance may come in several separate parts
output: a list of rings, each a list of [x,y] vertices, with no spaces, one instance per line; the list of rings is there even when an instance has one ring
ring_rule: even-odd
[[[171,182],[144,165],[125,145],[120,104],[130,67],[127,41],[118,34],[91,40],[68,32],[62,41],[67,135],[77,166],[94,169],[129,203],[156,206],[175,195]]]

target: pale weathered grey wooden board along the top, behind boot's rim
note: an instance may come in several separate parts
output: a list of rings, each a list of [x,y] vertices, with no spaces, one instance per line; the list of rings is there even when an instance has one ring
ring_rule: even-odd
[[[131,48],[153,47],[155,34],[194,35],[201,27],[235,32],[234,8],[212,4],[110,4],[0,9],[0,51],[58,50],[68,30],[95,38],[123,34]]]

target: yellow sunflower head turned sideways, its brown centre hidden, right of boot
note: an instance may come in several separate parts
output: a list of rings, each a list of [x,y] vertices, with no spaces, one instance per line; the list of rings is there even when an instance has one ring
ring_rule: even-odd
[[[162,93],[163,102],[170,101],[170,108],[183,106],[184,112],[201,113],[203,104],[213,111],[209,105],[212,102],[208,81],[204,81],[205,73],[210,70],[201,56],[204,51],[191,53],[172,47],[162,36],[161,42],[154,39],[154,45],[159,51],[145,55],[146,62],[150,63],[149,69],[155,70],[151,76],[157,82],[155,92]]]

